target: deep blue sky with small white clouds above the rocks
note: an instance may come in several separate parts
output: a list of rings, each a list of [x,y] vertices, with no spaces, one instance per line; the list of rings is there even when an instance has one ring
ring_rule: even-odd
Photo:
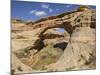
[[[35,21],[42,17],[57,15],[63,12],[74,10],[79,6],[80,5],[73,4],[25,2],[12,0],[11,18]],[[95,6],[91,6],[91,8],[95,9]]]

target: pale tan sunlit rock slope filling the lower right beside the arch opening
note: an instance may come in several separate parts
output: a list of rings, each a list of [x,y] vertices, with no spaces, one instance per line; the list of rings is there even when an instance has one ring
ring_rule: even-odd
[[[53,71],[94,69],[95,41],[95,29],[76,28],[61,58],[56,63],[50,64],[48,69]]]

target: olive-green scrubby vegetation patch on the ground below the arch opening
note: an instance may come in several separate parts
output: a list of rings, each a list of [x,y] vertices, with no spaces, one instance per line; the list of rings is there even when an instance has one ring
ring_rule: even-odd
[[[46,69],[46,65],[56,62],[61,54],[62,50],[53,48],[52,45],[49,45],[38,53],[39,60],[32,68],[35,70],[44,70]]]

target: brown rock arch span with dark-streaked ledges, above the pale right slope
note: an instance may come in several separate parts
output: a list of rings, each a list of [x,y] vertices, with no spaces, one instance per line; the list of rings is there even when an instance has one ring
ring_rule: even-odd
[[[81,8],[82,10],[80,10]],[[92,27],[95,27],[94,15],[94,10],[91,10],[89,7],[84,7],[84,9],[83,7],[80,7],[78,10],[73,12],[67,12],[57,16],[43,18],[34,22],[33,29],[40,28],[40,31],[38,32],[38,39],[34,45],[35,48],[38,47],[40,42],[42,42],[43,33],[48,29],[64,28],[71,37],[71,34],[76,27],[91,27],[91,24]]]

